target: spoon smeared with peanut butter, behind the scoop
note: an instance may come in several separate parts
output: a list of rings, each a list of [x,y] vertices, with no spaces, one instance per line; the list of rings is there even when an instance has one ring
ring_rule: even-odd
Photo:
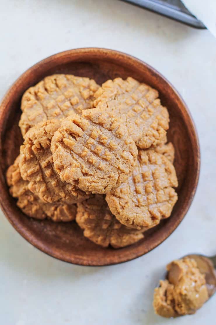
[[[216,255],[207,257],[201,254],[189,254],[183,257],[193,258],[196,261],[199,271],[205,275],[210,298],[216,292]],[[165,279],[167,279],[167,276],[168,272],[165,273]]]

